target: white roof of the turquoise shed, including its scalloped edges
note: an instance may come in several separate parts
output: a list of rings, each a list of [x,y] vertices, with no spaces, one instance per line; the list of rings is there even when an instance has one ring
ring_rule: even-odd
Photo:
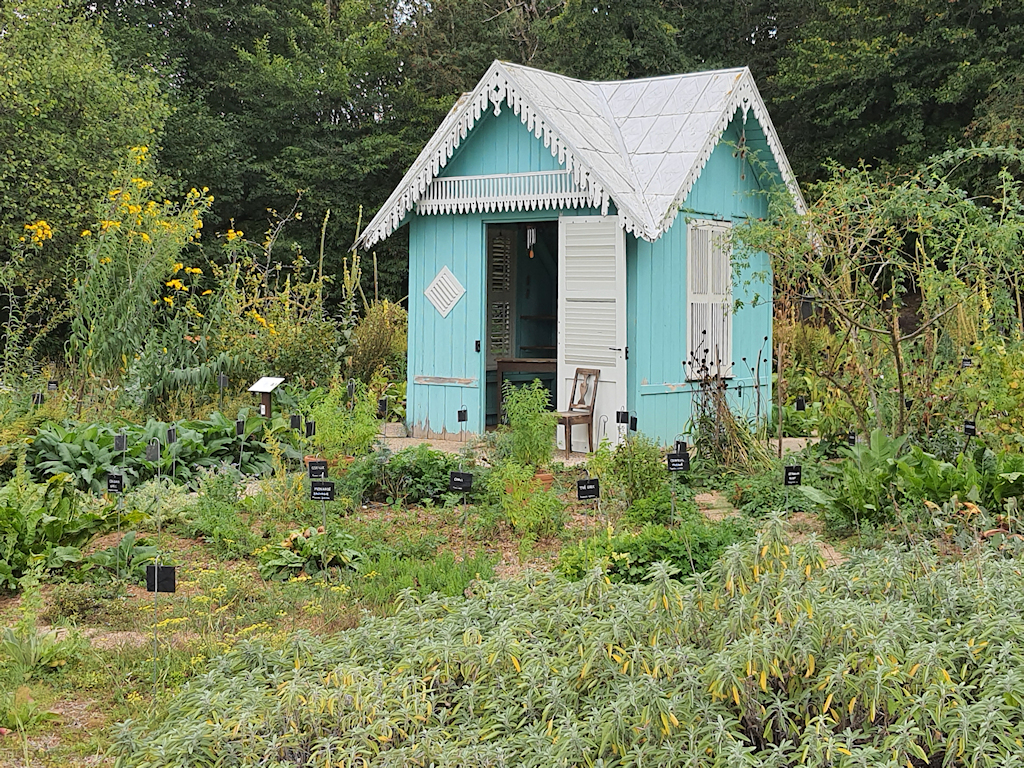
[[[396,229],[486,110],[512,109],[594,207],[614,203],[627,231],[655,241],[737,111],[753,112],[782,180],[805,205],[754,78],[745,67],[690,75],[588,82],[495,61],[449,112],[359,238],[370,247]]]

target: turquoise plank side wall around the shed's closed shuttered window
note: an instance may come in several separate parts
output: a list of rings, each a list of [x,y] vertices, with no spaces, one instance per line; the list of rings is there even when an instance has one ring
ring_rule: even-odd
[[[639,430],[663,444],[689,429],[696,389],[686,380],[685,367],[687,220],[738,223],[767,215],[758,172],[749,160],[733,157],[741,126],[739,117],[729,126],[668,232],[654,243],[627,238],[628,401]],[[753,115],[746,127],[751,145],[752,134],[763,134]],[[767,256],[761,254],[751,260],[745,274],[733,281],[733,299],[741,301],[742,308],[732,318],[734,365],[729,389],[733,404],[751,417],[758,411],[764,416],[771,402],[771,286],[743,284],[751,273],[767,270]]]

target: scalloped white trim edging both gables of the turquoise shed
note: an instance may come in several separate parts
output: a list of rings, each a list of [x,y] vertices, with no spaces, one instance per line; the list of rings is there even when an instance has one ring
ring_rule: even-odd
[[[551,150],[552,156],[557,158],[560,164],[564,165],[575,187],[573,198],[582,202],[585,201],[591,207],[600,208],[602,215],[607,214],[609,203],[614,202],[620,223],[626,231],[633,232],[637,238],[653,242],[672,226],[686,196],[696,182],[700,171],[703,170],[705,165],[707,165],[708,160],[711,158],[712,152],[718,145],[722,134],[737,110],[743,111],[744,118],[749,111],[754,111],[755,117],[758,119],[767,137],[768,145],[771,148],[775,162],[782,173],[783,181],[794,195],[795,205],[801,212],[806,210],[790,163],[782,152],[775,128],[768,117],[768,111],[757,91],[757,87],[754,85],[750,71],[745,68],[733,71],[736,73],[735,84],[728,93],[729,97],[726,99],[715,129],[709,132],[697,161],[691,166],[682,186],[675,196],[674,203],[663,215],[660,221],[653,220],[653,216],[656,214],[652,214],[649,211],[632,210],[627,196],[635,197],[635,189],[623,189],[621,190],[621,195],[616,195],[616,190],[612,188],[612,185],[607,183],[596,169],[586,163],[585,155],[580,153],[572,145],[572,142],[565,138],[563,133],[558,130],[558,126],[549,120],[542,110],[537,108],[534,101],[528,98],[526,91],[517,83],[515,78],[515,71],[517,69],[526,68],[506,66],[501,61],[495,61],[483,78],[481,78],[476,88],[459,98],[441,122],[441,125],[434,132],[434,135],[427,141],[426,146],[424,146],[419,157],[417,157],[412,167],[410,167],[409,171],[402,177],[398,186],[391,193],[391,196],[360,234],[356,245],[369,248],[397,229],[406,216],[428,195],[428,190],[431,189],[434,179],[437,178],[441,169],[447,165],[449,160],[455,155],[462,141],[480,120],[484,112],[493,109],[495,115],[501,114],[502,102],[507,103],[514,114],[519,117],[519,120],[526,129],[537,138],[543,139],[544,145]],[[585,83],[585,85],[588,87],[596,86],[593,88],[593,93],[596,98],[600,99],[607,115],[606,94],[600,87],[603,84]],[[615,138],[618,140],[620,147],[622,147],[621,136],[614,126],[614,122],[610,121],[609,125]],[[626,160],[628,161],[629,158],[626,158]],[[629,162],[627,162],[626,167],[632,173]],[[525,202],[520,205],[530,207],[530,204]],[[487,207],[485,204],[483,209]],[[647,208],[646,205],[643,207]],[[424,210],[431,208],[433,206],[427,205],[424,207]],[[442,206],[435,210],[444,210],[447,208],[447,206]],[[458,210],[458,208],[459,206],[456,206],[455,210]]]

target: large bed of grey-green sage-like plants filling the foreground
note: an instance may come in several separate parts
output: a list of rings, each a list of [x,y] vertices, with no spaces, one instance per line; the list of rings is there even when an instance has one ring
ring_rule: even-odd
[[[996,550],[825,568],[773,517],[689,587],[471,589],[242,640],[120,727],[118,765],[1022,764],[1024,575]]]

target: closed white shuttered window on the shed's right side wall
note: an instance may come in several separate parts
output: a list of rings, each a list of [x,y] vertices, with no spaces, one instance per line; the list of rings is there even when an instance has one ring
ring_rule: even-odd
[[[732,264],[727,221],[690,221],[686,231],[686,371],[732,375]]]

